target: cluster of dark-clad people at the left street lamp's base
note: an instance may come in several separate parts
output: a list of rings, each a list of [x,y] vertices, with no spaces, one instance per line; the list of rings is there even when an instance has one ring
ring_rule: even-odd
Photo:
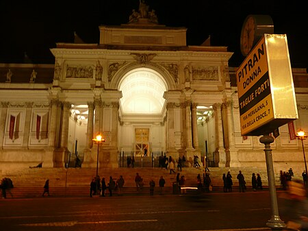
[[[120,178],[117,180],[114,180],[112,176],[110,175],[109,182],[105,181],[105,178],[100,178],[99,175],[92,178],[92,181],[90,183],[90,197],[93,195],[99,195],[101,197],[105,197],[105,191],[108,189],[110,197],[112,197],[112,193],[115,190],[118,190],[118,195],[123,195],[123,186],[124,186],[125,180],[123,178],[123,175],[120,175]]]

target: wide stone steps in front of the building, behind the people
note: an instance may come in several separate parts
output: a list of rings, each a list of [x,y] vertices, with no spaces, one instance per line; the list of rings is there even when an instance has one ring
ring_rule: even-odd
[[[56,197],[88,197],[90,195],[90,182],[92,178],[96,175],[95,168],[27,168],[27,169],[17,169],[14,171],[8,171],[6,173],[1,173],[1,178],[11,178],[14,183],[14,189],[11,189],[14,198],[27,198],[27,197],[42,197],[43,186],[47,179],[49,179],[49,191],[51,196]],[[223,181],[222,174],[231,172],[233,177],[233,187],[238,187],[238,180],[236,176],[238,171],[242,171],[246,186],[251,188],[251,175],[252,173],[259,173],[261,175],[261,180],[264,188],[268,187],[268,177],[266,168],[256,169],[256,168],[216,168],[210,167],[209,171],[211,183],[213,185],[213,191],[222,192]],[[196,177],[201,174],[203,178],[203,173],[205,169],[194,168],[194,167],[183,167],[182,171],[179,172],[180,175],[185,176],[185,186],[196,187]],[[143,178],[144,189],[141,191],[136,190],[135,176],[136,173]],[[123,175],[125,179],[124,185],[124,195],[148,195],[149,194],[149,181],[153,179],[155,181],[155,191],[159,190],[159,178],[163,176],[166,180],[164,193],[172,194],[175,193],[173,188],[173,183],[176,181],[175,173],[170,174],[169,169],[153,168],[153,167],[134,167],[127,168],[121,167],[117,169],[109,168],[99,168],[98,175],[101,178],[105,178],[105,182],[109,182],[110,176],[114,180],[118,179],[120,175]],[[301,176],[295,176],[293,179],[302,180]],[[303,181],[303,180],[302,180]],[[275,184],[277,189],[281,187],[279,174],[275,174]],[[236,190],[233,190],[236,191]],[[108,195],[108,191],[106,191]],[[116,192],[114,193],[116,195]],[[45,194],[46,195],[46,194]],[[7,193],[8,198],[10,194]]]

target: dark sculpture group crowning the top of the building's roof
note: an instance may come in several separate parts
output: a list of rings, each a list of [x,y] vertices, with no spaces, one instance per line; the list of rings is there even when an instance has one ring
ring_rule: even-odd
[[[139,2],[138,12],[133,9],[129,16],[129,23],[132,24],[158,24],[157,15],[155,10],[149,11],[149,5],[146,5],[144,0]]]

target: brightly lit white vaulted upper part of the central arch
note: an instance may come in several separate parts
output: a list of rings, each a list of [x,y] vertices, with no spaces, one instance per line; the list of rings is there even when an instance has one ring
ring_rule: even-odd
[[[161,114],[164,92],[167,90],[162,75],[147,68],[129,71],[119,84],[123,97],[120,104],[123,114]]]

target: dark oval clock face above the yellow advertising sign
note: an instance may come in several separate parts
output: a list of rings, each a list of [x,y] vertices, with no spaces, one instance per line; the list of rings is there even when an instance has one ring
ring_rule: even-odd
[[[256,22],[253,16],[248,16],[244,22],[241,33],[241,51],[244,56],[247,56],[248,53],[253,49],[253,44],[255,41],[255,32],[256,32]]]

